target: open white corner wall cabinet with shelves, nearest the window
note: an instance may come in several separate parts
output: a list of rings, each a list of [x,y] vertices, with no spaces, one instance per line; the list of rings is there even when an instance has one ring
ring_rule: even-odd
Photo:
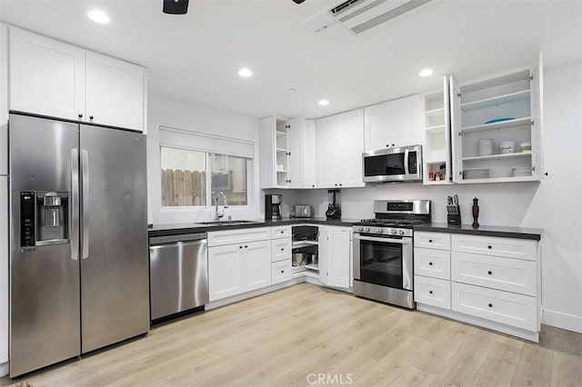
[[[313,120],[270,116],[261,120],[261,188],[310,188],[308,155],[315,152]]]

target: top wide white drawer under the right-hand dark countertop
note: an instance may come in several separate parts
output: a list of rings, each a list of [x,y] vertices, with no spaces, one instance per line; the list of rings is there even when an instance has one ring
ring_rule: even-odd
[[[536,241],[453,234],[451,250],[536,261]]]

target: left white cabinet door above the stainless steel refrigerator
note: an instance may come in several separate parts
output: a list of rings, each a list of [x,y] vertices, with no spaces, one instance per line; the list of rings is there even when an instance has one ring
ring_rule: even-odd
[[[10,109],[78,120],[85,114],[85,50],[10,27]]]

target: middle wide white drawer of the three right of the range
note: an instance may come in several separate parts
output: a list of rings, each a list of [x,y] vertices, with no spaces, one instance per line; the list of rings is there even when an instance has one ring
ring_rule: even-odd
[[[513,258],[451,253],[453,281],[536,295],[536,263]]]

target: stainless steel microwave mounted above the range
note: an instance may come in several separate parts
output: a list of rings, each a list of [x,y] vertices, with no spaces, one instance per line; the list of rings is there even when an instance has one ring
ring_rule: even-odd
[[[365,152],[364,182],[422,182],[422,145]]]

